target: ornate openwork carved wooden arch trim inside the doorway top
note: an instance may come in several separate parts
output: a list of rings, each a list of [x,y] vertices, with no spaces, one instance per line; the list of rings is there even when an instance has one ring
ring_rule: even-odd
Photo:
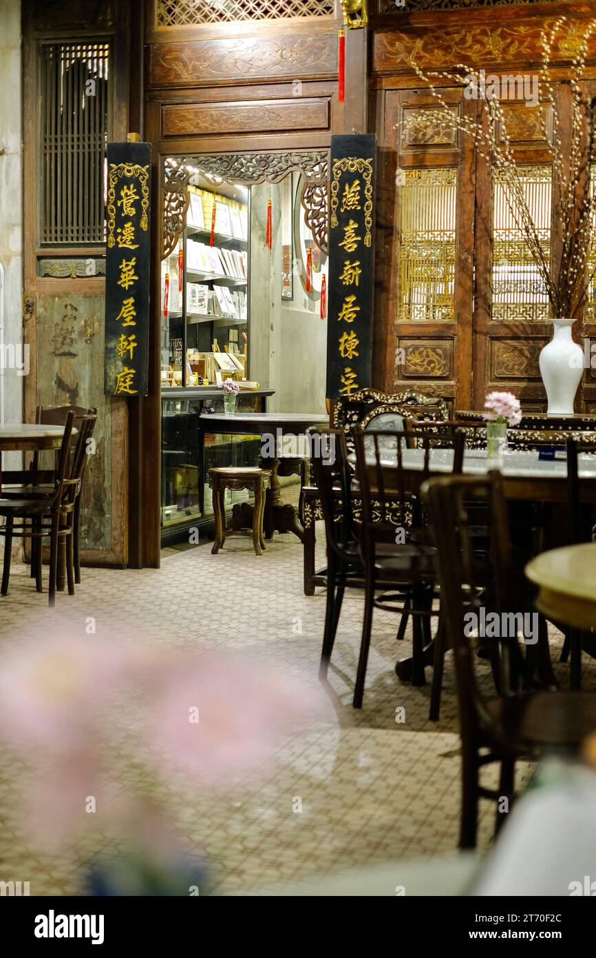
[[[184,230],[190,196],[187,166],[198,167],[228,183],[251,186],[279,183],[288,173],[299,172],[304,181],[300,201],[304,222],[312,230],[321,252],[328,249],[329,150],[292,150],[271,153],[200,153],[164,161],[164,249],[163,258],[176,248]]]

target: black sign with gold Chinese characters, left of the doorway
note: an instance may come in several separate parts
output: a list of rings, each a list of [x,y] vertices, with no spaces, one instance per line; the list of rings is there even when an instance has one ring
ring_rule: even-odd
[[[147,395],[150,179],[150,144],[108,144],[104,392],[109,396]]]

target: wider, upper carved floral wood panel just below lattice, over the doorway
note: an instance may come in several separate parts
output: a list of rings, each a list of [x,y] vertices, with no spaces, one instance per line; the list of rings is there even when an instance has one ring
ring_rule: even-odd
[[[246,80],[334,77],[338,38],[324,33],[187,40],[149,46],[153,86],[205,86]]]

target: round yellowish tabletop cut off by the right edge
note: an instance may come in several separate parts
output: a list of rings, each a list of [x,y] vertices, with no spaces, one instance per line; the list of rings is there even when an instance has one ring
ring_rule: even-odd
[[[575,628],[596,628],[596,542],[543,552],[525,567],[539,586],[537,608]]]

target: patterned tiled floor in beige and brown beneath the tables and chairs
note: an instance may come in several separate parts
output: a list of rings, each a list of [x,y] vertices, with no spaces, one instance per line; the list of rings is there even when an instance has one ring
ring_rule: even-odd
[[[59,595],[53,612],[46,609],[47,597],[35,593],[28,569],[16,566],[10,595],[0,601],[5,645],[18,642],[19,623],[39,627],[33,626],[38,613],[41,622],[61,617],[77,627],[94,616],[98,634],[110,623],[133,621],[147,643],[208,656],[238,651],[318,696],[317,718],[298,723],[277,742],[274,764],[233,789],[190,788],[174,797],[172,824],[190,855],[207,857],[216,894],[254,894],[278,882],[455,848],[459,757],[451,656],[441,721],[433,724],[430,686],[411,688],[394,673],[396,658],[408,654],[408,637],[398,648],[396,618],[377,613],[364,708],[354,711],[362,596],[346,596],[329,684],[322,688],[324,592],[303,595],[301,563],[294,536],[276,536],[261,558],[248,539],[235,537],[218,556],[210,555],[208,543],[167,550],[159,571],[84,569],[77,596]],[[593,684],[591,660],[586,670],[586,684]],[[396,722],[400,706],[403,723]],[[114,717],[116,740],[133,751],[135,721],[132,706]],[[527,777],[526,769],[520,779]],[[30,879],[32,894],[77,893],[89,860],[111,858],[114,843],[96,833],[74,852],[50,855],[28,847],[18,826],[22,781],[19,766],[4,756],[0,878]],[[120,782],[124,789],[133,785],[141,792],[149,787],[134,763],[122,767]],[[297,797],[301,811],[295,810]],[[492,821],[486,806],[481,847],[490,840]],[[122,843],[124,848],[125,836]]]

